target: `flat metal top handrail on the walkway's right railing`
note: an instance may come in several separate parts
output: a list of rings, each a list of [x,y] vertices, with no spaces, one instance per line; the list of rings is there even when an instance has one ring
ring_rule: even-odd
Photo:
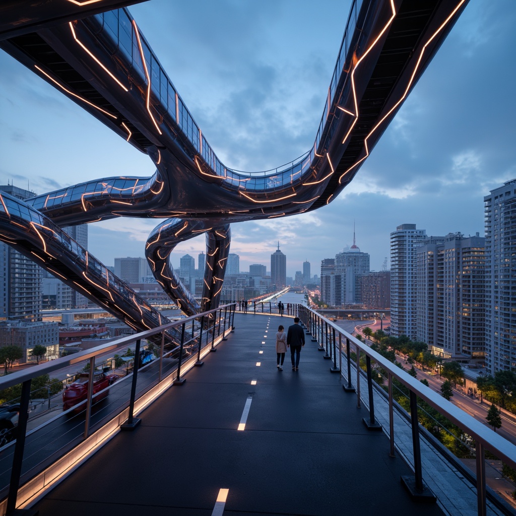
[[[338,331],[340,334],[348,338],[354,346],[357,346],[361,352],[365,353],[366,356],[369,356],[372,360],[388,371],[393,378],[396,378],[396,380],[404,384],[409,390],[413,391],[418,397],[426,401],[431,407],[449,418],[452,423],[464,430],[469,436],[482,443],[487,449],[492,451],[492,453],[499,456],[500,459],[503,459],[504,462],[510,465],[510,467],[516,469],[516,445],[509,442],[480,421],[477,421],[473,416],[464,412],[451,401],[443,398],[437,392],[432,391],[425,384],[410,376],[405,372],[405,370],[400,369],[385,357],[382,357],[380,353],[371,349],[367,344],[359,341],[358,338],[353,337],[343,328],[334,324],[334,322],[305,305],[302,305],[302,308],[317,315],[317,317],[320,317],[325,321],[325,323],[334,328],[335,331]]]

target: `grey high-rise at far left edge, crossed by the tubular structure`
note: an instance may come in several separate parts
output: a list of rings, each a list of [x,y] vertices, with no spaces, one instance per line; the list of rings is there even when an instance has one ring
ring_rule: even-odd
[[[17,199],[34,197],[34,192],[13,185],[2,185],[0,190]],[[5,243],[0,243],[0,274],[4,289],[0,297],[1,319],[41,320],[43,303],[43,271]]]

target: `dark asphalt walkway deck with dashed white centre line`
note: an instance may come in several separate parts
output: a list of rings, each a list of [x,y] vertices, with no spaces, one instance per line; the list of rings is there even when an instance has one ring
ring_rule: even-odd
[[[383,432],[366,429],[367,409],[310,336],[299,371],[289,354],[278,371],[279,324],[292,319],[237,314],[235,333],[204,366],[49,493],[40,516],[442,514],[411,501],[400,482],[409,467],[389,457]]]

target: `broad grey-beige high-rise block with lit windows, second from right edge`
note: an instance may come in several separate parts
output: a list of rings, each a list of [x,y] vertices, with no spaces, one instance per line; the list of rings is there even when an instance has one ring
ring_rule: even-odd
[[[485,238],[422,240],[416,251],[416,338],[443,358],[483,365]]]

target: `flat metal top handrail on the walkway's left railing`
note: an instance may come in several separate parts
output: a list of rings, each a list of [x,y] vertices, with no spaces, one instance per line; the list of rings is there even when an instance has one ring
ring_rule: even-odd
[[[190,317],[185,317],[183,319],[179,319],[177,321],[172,321],[163,326],[158,326],[156,328],[142,331],[139,333],[133,333],[131,335],[127,335],[124,337],[117,338],[115,341],[110,341],[106,344],[100,344],[99,346],[95,346],[90,349],[85,349],[84,351],[79,351],[78,353],[74,353],[71,356],[61,357],[56,360],[52,360],[51,362],[45,362],[43,364],[34,365],[31,367],[27,367],[26,369],[21,369],[14,373],[10,373],[8,375],[4,375],[0,377],[0,390],[7,389],[8,387],[12,387],[13,385],[18,385],[19,383],[23,383],[27,380],[31,380],[38,376],[42,376],[45,374],[50,374],[55,370],[62,369],[68,365],[73,365],[78,362],[82,362],[84,360],[88,360],[92,357],[96,357],[106,351],[110,351],[112,349],[118,348],[124,344],[128,344],[131,342],[135,342],[138,339],[147,338],[156,333],[161,333],[163,331],[169,330],[171,328],[175,328],[178,326],[182,326],[183,324],[193,320],[198,319],[200,317],[206,316],[210,313],[216,313],[218,310],[230,307],[233,303],[224,304],[220,307],[213,308],[206,312],[202,312],[196,315],[192,315]]]

